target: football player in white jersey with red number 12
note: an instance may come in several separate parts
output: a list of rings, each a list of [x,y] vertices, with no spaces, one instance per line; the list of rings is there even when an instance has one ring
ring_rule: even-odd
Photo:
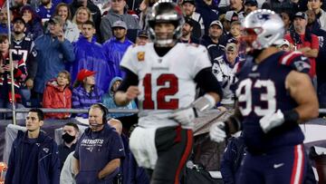
[[[147,21],[153,43],[131,46],[124,54],[120,66],[126,77],[115,102],[139,100],[139,127],[129,145],[151,183],[179,183],[192,150],[196,111],[213,108],[222,90],[206,48],[177,44],[185,21],[175,3],[159,1]],[[206,94],[194,102],[197,84]]]

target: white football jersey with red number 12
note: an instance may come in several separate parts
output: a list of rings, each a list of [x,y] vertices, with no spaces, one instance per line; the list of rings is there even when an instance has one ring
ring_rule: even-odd
[[[194,102],[194,78],[211,62],[202,45],[176,44],[160,57],[149,43],[130,46],[120,65],[139,77],[139,125],[166,127],[178,124],[168,118],[173,111]]]

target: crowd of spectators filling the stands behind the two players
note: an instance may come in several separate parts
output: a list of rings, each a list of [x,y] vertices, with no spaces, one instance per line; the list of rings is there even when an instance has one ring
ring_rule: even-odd
[[[17,107],[90,109],[94,103],[102,102],[109,109],[137,109],[136,102],[118,106],[113,95],[124,77],[120,70],[123,54],[129,46],[150,42],[145,19],[155,2],[14,0],[10,17],[4,4],[0,10],[0,108],[10,108],[13,102],[10,48]],[[218,108],[233,108],[237,65],[253,59],[245,54],[245,45],[241,42],[241,23],[246,15],[259,8],[281,15],[286,35],[277,46],[284,52],[302,52],[310,59],[312,82],[321,107],[326,106],[326,6],[323,0],[266,0],[262,5],[256,0],[181,0],[177,3],[186,17],[178,42],[206,46],[212,72],[224,88],[225,95],[216,105]],[[12,45],[9,45],[8,20]],[[113,118],[128,115],[109,114]],[[44,118],[74,116],[87,119],[89,113],[45,113]],[[4,118],[12,117],[0,113],[0,119]],[[62,137],[67,144],[59,146],[64,159],[74,150],[78,137],[78,127],[67,124],[64,132],[70,131],[71,135]],[[120,136],[128,140],[121,132]],[[131,153],[126,154],[134,161]],[[65,168],[63,161],[61,167]],[[70,165],[67,168],[70,169]]]

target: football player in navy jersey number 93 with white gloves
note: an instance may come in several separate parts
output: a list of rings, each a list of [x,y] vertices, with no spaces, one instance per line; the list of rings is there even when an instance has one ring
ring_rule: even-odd
[[[302,183],[308,158],[299,123],[316,118],[319,108],[309,61],[299,52],[278,51],[284,27],[273,11],[254,11],[243,28],[254,60],[238,73],[235,113],[212,125],[210,137],[221,142],[242,130],[248,153],[236,183]]]

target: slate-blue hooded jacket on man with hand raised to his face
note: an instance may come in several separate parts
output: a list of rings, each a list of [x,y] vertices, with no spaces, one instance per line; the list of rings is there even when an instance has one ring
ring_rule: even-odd
[[[34,78],[34,91],[43,93],[46,82],[56,78],[65,69],[66,61],[74,61],[73,46],[68,40],[62,43],[51,34],[43,34],[35,40],[37,51],[37,73]]]

